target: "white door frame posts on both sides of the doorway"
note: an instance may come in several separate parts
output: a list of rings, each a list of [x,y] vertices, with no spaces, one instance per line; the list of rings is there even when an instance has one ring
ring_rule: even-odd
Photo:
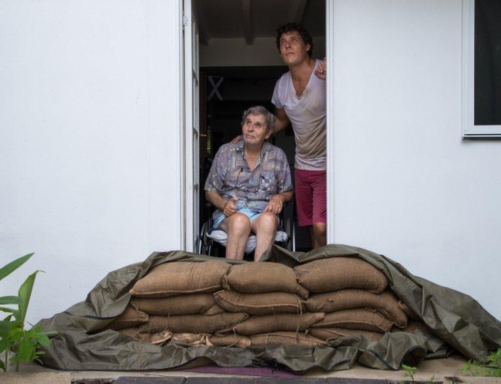
[[[199,193],[199,188],[197,181],[196,190],[194,190],[193,173],[193,151],[195,146],[193,143],[194,135],[188,134],[188,127],[194,127],[193,121],[193,111],[192,111],[192,84],[191,84],[191,73],[188,72],[190,63],[193,63],[192,57],[192,46],[191,46],[191,23],[192,23],[192,0],[180,0],[181,4],[184,4],[184,12],[182,14],[182,23],[184,26],[184,60],[182,61],[181,73],[183,76],[181,78],[182,88],[184,92],[183,99],[183,115],[184,115],[184,127],[183,127],[183,157],[182,157],[182,196],[183,196],[183,207],[181,207],[181,234],[183,250],[194,252],[195,244],[192,244],[191,239],[194,238],[194,217],[198,217],[196,212],[194,212],[194,193]],[[327,90],[326,90],[326,123],[327,123],[327,244],[334,243],[334,78],[332,73],[333,62],[334,62],[334,0],[325,0],[325,55],[327,57],[327,68],[331,68],[327,75]],[[189,26],[189,27],[188,27]],[[198,59],[196,60],[198,65]],[[189,69],[191,71],[191,69]],[[198,145],[198,142],[195,143]],[[195,207],[197,209],[197,207]]]

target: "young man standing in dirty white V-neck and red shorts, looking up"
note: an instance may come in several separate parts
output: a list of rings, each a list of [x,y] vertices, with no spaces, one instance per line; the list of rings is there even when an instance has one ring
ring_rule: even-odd
[[[273,133],[292,124],[298,221],[309,228],[315,249],[326,244],[327,226],[325,62],[312,58],[312,37],[299,23],[277,29],[277,48],[289,71],[273,92],[277,118]]]

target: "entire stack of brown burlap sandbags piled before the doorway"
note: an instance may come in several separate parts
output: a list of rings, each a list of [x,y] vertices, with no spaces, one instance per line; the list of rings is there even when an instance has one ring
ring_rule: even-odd
[[[241,348],[312,347],[358,335],[379,340],[408,325],[409,308],[387,286],[382,272],[356,257],[294,269],[275,262],[168,262],[136,282],[129,307],[108,328],[152,343]]]

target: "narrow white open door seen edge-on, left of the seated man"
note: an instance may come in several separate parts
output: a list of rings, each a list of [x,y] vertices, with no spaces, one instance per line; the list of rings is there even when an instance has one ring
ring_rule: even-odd
[[[184,213],[183,245],[196,250],[199,226],[199,36],[191,0],[183,0]]]

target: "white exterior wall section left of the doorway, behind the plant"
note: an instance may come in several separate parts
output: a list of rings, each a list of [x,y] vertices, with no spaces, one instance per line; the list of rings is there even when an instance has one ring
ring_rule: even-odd
[[[177,2],[0,4],[0,282],[29,321],[180,245]]]

